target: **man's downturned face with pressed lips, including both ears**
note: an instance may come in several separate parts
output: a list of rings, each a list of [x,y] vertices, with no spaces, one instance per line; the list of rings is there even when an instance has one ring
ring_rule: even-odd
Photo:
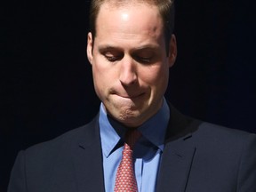
[[[175,36],[167,55],[163,21],[148,4],[102,4],[96,31],[93,49],[91,33],[87,44],[95,91],[109,116],[137,127],[162,106],[176,58]]]

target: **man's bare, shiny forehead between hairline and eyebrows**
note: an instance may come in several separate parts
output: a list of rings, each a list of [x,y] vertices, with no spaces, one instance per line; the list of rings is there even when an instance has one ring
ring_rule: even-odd
[[[159,38],[163,34],[163,21],[156,5],[104,3],[96,20],[97,37],[121,38],[141,41]],[[101,39],[103,40],[103,39]]]

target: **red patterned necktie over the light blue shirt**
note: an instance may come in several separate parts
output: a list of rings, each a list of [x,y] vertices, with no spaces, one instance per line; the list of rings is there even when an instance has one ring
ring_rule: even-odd
[[[121,163],[116,172],[115,192],[137,192],[137,182],[134,174],[132,148],[141,133],[137,130],[128,130],[125,135],[124,150]]]

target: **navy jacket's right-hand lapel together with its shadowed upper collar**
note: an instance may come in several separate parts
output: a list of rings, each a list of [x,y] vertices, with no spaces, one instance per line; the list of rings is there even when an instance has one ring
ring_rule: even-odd
[[[196,154],[196,147],[190,139],[201,122],[183,116],[171,105],[170,108],[171,119],[166,132],[156,191],[185,192]]]

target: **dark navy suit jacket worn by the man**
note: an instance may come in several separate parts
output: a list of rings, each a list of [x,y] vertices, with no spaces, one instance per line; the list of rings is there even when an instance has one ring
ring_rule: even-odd
[[[256,192],[254,134],[171,112],[157,192]],[[98,118],[21,151],[8,191],[104,191]]]

